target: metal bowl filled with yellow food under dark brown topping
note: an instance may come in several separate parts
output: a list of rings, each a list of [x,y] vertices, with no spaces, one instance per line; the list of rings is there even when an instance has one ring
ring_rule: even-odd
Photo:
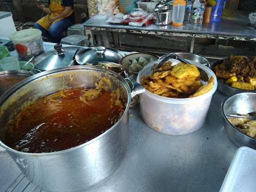
[[[225,95],[256,92],[256,56],[230,55],[216,61],[212,70],[217,76],[218,90]]]

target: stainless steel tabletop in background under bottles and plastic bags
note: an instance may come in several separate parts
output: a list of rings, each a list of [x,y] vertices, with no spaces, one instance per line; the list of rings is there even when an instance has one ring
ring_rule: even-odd
[[[184,24],[182,26],[158,26],[150,24],[148,26],[128,26],[121,24],[111,24],[106,20],[89,19],[84,22],[85,29],[90,30],[111,30],[119,32],[134,32],[134,33],[148,33],[148,34],[162,34],[162,35],[180,35],[180,36],[195,36],[201,37],[202,34],[207,34],[208,37],[220,36],[220,38],[236,37],[239,40],[256,40],[256,30],[251,30],[246,27],[248,22],[245,16],[242,19],[221,19],[220,22],[212,22],[202,25]],[[148,32],[150,31],[150,32]],[[179,34],[178,34],[179,33]],[[205,36],[207,37],[207,36]],[[238,40],[237,39],[237,40]]]

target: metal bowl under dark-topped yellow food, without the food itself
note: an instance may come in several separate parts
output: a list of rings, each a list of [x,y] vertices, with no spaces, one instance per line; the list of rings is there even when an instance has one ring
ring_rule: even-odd
[[[224,58],[224,59],[226,59],[226,58]],[[214,71],[213,67],[216,64],[223,62],[224,59],[220,59],[220,60],[217,60],[216,62],[214,62],[211,66],[211,69]],[[234,88],[226,83],[220,82],[219,80],[217,80],[217,82],[218,82],[218,90],[227,96],[231,96],[233,94],[238,94],[241,92],[256,92],[255,90],[245,90],[245,89],[240,89],[240,88]]]

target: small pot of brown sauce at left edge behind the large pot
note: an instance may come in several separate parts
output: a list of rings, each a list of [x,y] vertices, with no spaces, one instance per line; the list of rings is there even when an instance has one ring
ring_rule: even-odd
[[[21,80],[32,76],[33,74],[26,70],[8,70],[0,72],[0,96],[8,90],[10,87],[14,86]]]

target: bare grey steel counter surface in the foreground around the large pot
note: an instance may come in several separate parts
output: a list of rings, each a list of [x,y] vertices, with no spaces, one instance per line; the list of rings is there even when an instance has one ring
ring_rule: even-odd
[[[130,140],[122,164],[88,191],[218,191],[237,148],[223,129],[223,98],[216,91],[203,127],[179,136],[154,131],[141,120],[139,106],[130,109]],[[6,152],[0,152],[0,191],[39,191]]]

